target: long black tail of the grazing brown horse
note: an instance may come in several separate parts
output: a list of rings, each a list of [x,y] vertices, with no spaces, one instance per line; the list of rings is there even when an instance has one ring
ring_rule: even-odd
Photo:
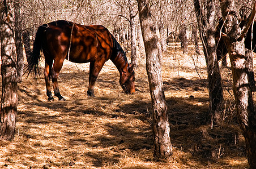
[[[42,50],[42,37],[44,37],[44,32],[48,28],[46,24],[39,26],[36,32],[35,41],[33,43],[33,51],[30,55],[27,57],[27,69],[25,70],[25,73],[28,73],[28,75],[32,72],[33,78],[37,80],[37,75],[40,76],[41,70],[39,68],[40,65],[40,59],[41,59],[41,50]]]

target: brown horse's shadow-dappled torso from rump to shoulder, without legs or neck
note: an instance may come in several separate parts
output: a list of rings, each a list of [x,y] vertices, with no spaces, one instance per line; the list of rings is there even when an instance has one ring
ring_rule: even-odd
[[[58,57],[75,63],[87,63],[106,61],[112,55],[112,34],[102,25],[84,26],[59,20],[46,26],[45,48],[48,51],[44,53],[54,59]]]

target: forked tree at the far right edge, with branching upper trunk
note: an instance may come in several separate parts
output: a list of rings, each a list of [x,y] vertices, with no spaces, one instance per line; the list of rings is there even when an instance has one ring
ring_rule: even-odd
[[[254,21],[255,5],[250,19],[241,23],[241,16],[236,11],[231,0],[220,0],[221,13],[224,19],[224,29],[221,34],[228,48],[233,75],[233,92],[236,100],[237,118],[245,137],[249,168],[256,168],[256,113],[253,105],[253,95],[250,85],[250,56],[245,51],[245,34]]]

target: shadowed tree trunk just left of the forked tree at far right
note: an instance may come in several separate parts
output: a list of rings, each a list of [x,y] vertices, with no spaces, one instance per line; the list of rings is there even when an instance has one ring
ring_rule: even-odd
[[[208,0],[205,7],[200,7],[199,0],[194,0],[194,6],[200,38],[203,43],[203,52],[206,57],[210,96],[209,113],[211,115],[211,127],[213,127],[214,123],[221,124],[221,115],[223,115],[221,113],[223,88],[215,43],[216,1]],[[202,14],[202,8],[206,9],[206,14]],[[204,18],[206,16],[207,18]]]

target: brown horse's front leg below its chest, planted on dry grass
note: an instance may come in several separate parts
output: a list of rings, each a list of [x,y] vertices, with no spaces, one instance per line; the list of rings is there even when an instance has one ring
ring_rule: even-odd
[[[89,69],[89,87],[87,90],[87,95],[89,97],[95,97],[94,95],[94,86],[96,79],[100,73],[100,70],[102,69],[105,61],[97,61],[97,62],[91,62],[90,63],[90,69]]]

